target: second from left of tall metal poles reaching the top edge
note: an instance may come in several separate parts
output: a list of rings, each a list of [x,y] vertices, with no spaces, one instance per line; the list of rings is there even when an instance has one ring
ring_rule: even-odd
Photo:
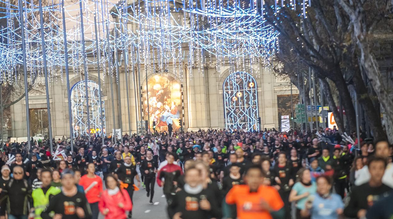
[[[49,139],[50,139],[50,152],[53,152],[53,141],[52,141],[52,121],[50,116],[50,103],[49,103],[49,86],[48,86],[48,69],[46,64],[46,48],[45,48],[45,39],[44,39],[44,15],[42,14],[42,2],[39,2],[40,7],[40,24],[41,24],[41,44],[42,44],[42,61],[44,63],[44,75],[45,75],[45,93],[46,93],[46,108],[48,108],[48,131],[49,131]],[[41,112],[41,123],[42,123],[42,112]],[[42,132],[44,135],[44,132]]]

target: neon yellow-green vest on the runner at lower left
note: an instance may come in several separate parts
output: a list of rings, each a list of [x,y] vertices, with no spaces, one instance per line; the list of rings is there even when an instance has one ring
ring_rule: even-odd
[[[33,190],[31,196],[33,197],[35,219],[41,219],[41,212],[43,212],[46,206],[49,204],[49,198],[51,195],[57,195],[61,192],[60,188],[50,186],[46,194],[42,191],[42,188]]]

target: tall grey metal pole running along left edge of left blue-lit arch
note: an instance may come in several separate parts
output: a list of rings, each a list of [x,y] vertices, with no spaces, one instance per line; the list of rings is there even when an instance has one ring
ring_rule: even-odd
[[[64,0],[61,0],[61,7],[62,7],[62,15],[63,15],[63,35],[64,35],[64,60],[65,60],[65,67],[66,67],[66,81],[67,81],[67,98],[68,98],[68,121],[70,123],[70,143],[71,143],[71,152],[73,152],[73,127],[72,127],[72,110],[71,110],[71,90],[70,90],[70,75],[68,71],[68,48],[67,48],[67,32],[66,32],[66,20],[65,20],[65,13],[64,13]]]

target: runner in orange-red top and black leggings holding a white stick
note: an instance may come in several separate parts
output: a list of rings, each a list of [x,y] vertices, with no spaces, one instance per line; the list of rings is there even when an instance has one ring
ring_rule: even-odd
[[[95,165],[94,163],[89,163],[87,165],[87,174],[81,177],[79,185],[83,186],[84,194],[86,194],[86,199],[90,204],[92,219],[98,219],[98,203],[103,192],[103,185],[101,177],[94,173]]]

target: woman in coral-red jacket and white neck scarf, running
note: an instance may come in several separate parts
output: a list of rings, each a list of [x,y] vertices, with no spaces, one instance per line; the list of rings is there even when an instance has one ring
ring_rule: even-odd
[[[132,210],[132,203],[128,192],[120,188],[118,179],[108,174],[105,181],[107,190],[101,195],[98,208],[105,219],[126,219],[126,211]]]

